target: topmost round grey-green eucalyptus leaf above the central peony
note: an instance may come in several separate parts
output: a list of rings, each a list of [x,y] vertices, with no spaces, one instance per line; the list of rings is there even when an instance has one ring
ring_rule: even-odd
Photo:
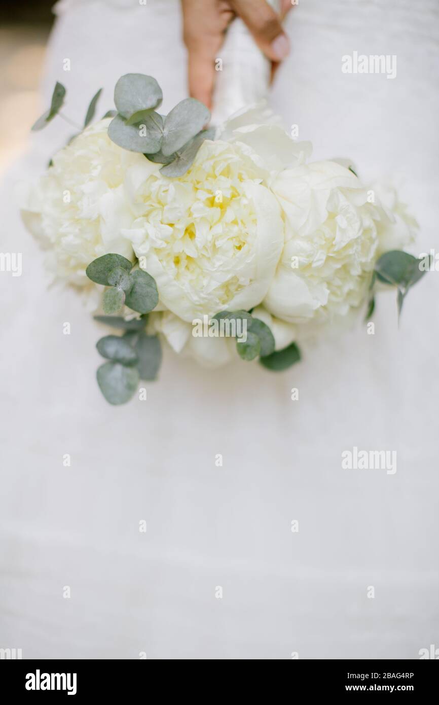
[[[156,79],[144,73],[125,73],[114,88],[114,104],[125,120],[139,111],[156,108],[162,100]]]

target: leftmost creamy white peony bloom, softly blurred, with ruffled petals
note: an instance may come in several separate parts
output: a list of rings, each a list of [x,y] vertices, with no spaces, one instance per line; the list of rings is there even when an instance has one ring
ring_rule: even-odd
[[[85,269],[96,257],[117,252],[132,259],[132,247],[121,235],[134,217],[123,181],[130,166],[148,162],[111,142],[109,122],[94,123],[61,149],[20,199],[25,224],[49,250],[48,269],[76,286],[95,286]]]

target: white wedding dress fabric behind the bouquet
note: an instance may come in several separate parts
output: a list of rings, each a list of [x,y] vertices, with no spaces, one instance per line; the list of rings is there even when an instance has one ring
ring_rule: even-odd
[[[438,10],[300,0],[271,94],[314,159],[402,182],[419,252],[438,247]],[[342,73],[353,51],[396,55],[397,77]],[[104,114],[131,71],[159,80],[164,112],[186,97],[178,0],[58,5],[47,100],[61,80],[66,114],[82,121],[103,86]],[[75,293],[47,290],[11,196],[71,132],[55,120],[32,137],[1,191],[2,247],[23,252],[23,276],[0,274],[0,646],[165,659],[419,658],[439,646],[439,274],[409,294],[399,329],[389,293],[375,335],[358,326],[283,374],[209,371],[166,351],[147,401],[111,407],[94,380],[104,331]],[[397,450],[397,472],[342,470],[353,446]]]

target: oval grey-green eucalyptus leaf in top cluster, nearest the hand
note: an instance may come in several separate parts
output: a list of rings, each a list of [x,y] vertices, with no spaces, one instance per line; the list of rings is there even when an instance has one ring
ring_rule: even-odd
[[[163,154],[169,155],[178,152],[202,130],[204,125],[209,122],[210,117],[211,114],[206,106],[195,98],[185,98],[178,103],[165,118],[161,147]],[[147,152],[146,149],[145,152]]]

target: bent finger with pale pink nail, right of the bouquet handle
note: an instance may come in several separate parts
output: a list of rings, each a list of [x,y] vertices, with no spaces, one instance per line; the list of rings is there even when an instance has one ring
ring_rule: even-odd
[[[266,0],[232,0],[233,10],[247,25],[259,49],[271,61],[282,61],[290,52],[290,41],[285,35],[276,12]]]

